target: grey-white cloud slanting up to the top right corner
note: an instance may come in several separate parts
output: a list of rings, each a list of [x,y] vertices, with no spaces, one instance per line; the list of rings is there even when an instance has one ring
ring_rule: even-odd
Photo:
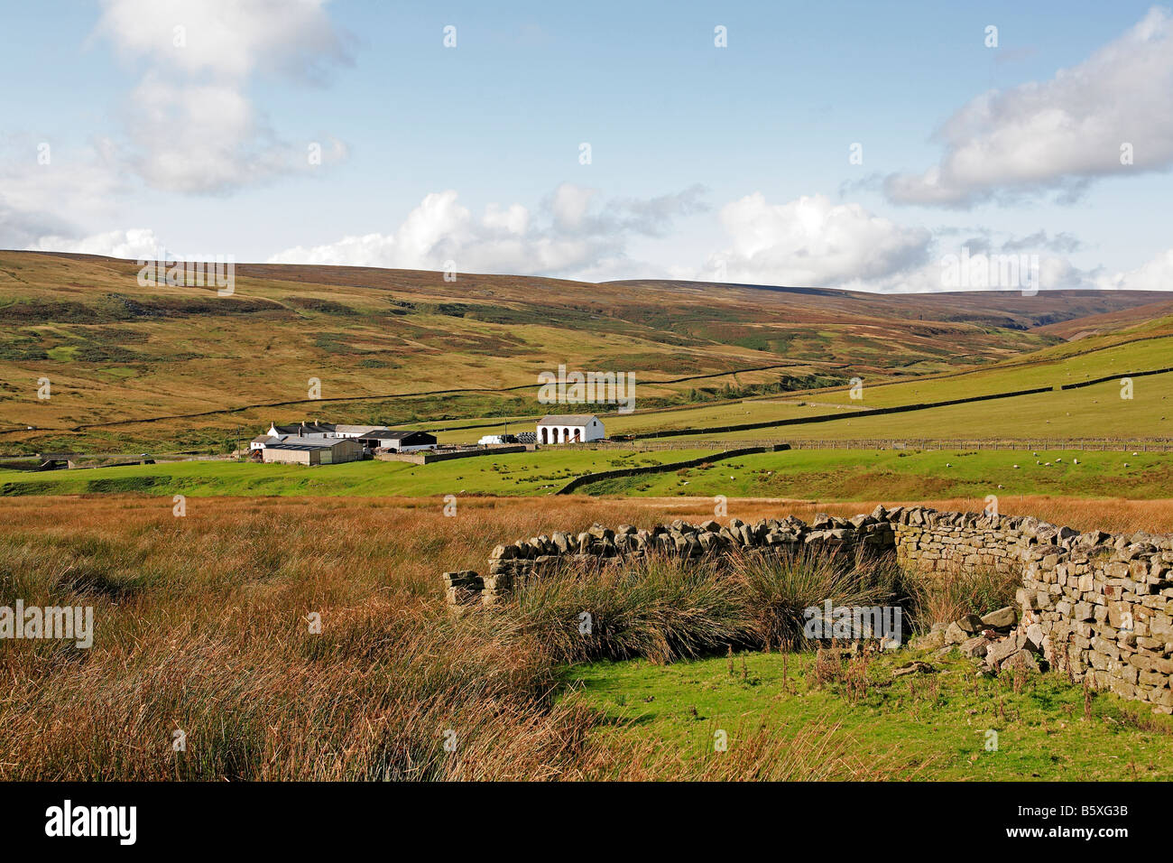
[[[1153,7],[1124,35],[1053,79],[985,93],[937,132],[941,162],[893,174],[889,200],[970,207],[1057,191],[1096,177],[1173,164],[1173,18]],[[1132,164],[1121,164],[1131,146]]]

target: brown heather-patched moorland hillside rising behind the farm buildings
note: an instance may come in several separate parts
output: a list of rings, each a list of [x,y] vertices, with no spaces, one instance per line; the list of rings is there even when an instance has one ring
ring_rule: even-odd
[[[238,264],[233,296],[131,261],[0,252],[0,440],[223,450],[271,419],[406,424],[540,409],[537,375],[633,372],[639,406],[941,373],[1059,350],[1159,292],[872,295]],[[38,382],[50,382],[49,399]],[[320,400],[308,382],[320,380]],[[149,422],[143,422],[149,420]],[[33,426],[32,430],[28,426]]]

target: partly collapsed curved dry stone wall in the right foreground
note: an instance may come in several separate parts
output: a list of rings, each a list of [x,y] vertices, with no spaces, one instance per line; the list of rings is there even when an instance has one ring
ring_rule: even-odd
[[[1030,517],[877,506],[854,518],[793,515],[726,525],[673,521],[650,531],[594,525],[500,545],[488,574],[443,574],[457,609],[504,601],[564,561],[622,565],[652,552],[690,558],[746,548],[894,553],[927,572],[996,571],[1021,579],[1016,638],[1052,668],[1173,713],[1173,534],[1080,532]]]

